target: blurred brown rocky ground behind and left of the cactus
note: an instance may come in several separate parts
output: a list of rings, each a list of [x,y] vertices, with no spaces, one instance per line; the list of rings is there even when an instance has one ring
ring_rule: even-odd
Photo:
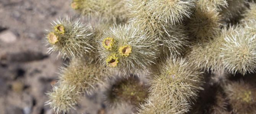
[[[44,38],[66,16],[75,16],[69,0],[0,0],[0,114],[54,114],[45,93],[63,61],[47,54]],[[105,114],[98,96],[83,98],[70,114]]]

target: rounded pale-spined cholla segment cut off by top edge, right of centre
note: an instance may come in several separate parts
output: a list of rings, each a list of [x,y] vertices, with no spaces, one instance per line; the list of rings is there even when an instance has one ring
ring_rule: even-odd
[[[147,5],[152,17],[163,25],[181,23],[185,17],[190,17],[195,0],[149,0]]]

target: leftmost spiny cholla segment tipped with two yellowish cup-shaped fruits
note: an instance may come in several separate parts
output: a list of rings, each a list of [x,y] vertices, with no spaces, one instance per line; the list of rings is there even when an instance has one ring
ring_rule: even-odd
[[[48,30],[47,42],[49,53],[59,52],[58,56],[63,59],[72,59],[74,57],[83,57],[92,55],[96,47],[94,43],[94,33],[89,25],[78,21],[71,21],[70,18],[54,21],[52,30]]]

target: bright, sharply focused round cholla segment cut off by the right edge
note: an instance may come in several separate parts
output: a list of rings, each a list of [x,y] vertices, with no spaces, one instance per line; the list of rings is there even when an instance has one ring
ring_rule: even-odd
[[[220,55],[225,68],[231,73],[255,72],[255,43],[256,35],[246,33],[245,30],[236,30],[232,35],[227,35]]]

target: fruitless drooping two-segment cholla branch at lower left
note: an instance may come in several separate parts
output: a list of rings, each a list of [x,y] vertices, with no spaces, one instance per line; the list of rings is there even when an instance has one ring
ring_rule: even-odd
[[[47,93],[47,105],[59,113],[75,109],[79,98],[96,91],[95,86],[103,84],[112,75],[106,69],[84,59],[73,59],[68,67],[63,67],[60,79],[53,85],[53,91]]]

